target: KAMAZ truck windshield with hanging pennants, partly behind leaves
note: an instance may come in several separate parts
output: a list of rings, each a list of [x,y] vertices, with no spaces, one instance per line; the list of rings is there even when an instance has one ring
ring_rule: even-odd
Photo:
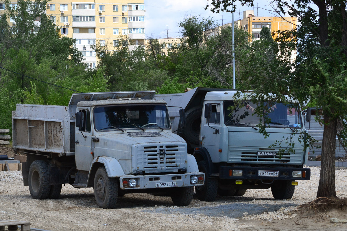
[[[234,110],[231,110],[234,107]],[[268,102],[268,110],[259,120],[259,116],[254,114],[257,105],[250,101],[242,101],[242,104],[235,108],[234,101],[225,101],[223,104],[225,124],[227,126],[256,126],[261,122],[266,122],[270,127],[302,127],[302,120],[299,114],[298,105],[285,105],[282,103]],[[254,115],[253,115],[254,114]]]

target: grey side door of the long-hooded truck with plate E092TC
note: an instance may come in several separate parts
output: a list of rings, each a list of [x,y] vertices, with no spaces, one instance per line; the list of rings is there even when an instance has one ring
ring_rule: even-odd
[[[77,109],[78,110],[78,109]],[[83,126],[75,128],[75,158],[78,170],[89,171],[93,160],[92,152],[92,129],[90,110],[79,108],[83,113]]]

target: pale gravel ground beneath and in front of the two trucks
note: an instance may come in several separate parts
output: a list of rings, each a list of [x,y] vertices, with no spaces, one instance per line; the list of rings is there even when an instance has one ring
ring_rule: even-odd
[[[0,172],[0,220],[25,220],[46,230],[347,230],[347,224],[329,223],[331,216],[346,219],[345,211],[324,216],[296,211],[315,199],[319,174],[320,167],[311,167],[311,180],[299,181],[288,200],[274,200],[270,189],[248,190],[243,197],[194,198],[177,207],[170,197],[128,194],[118,199],[118,208],[100,209],[92,188],[65,185],[59,199],[35,200],[22,172]],[[347,197],[346,182],[347,169],[337,170],[337,196]]]

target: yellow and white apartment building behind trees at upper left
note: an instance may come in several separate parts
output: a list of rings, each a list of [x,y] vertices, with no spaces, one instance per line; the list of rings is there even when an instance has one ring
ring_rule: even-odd
[[[13,4],[17,5],[17,2]],[[3,10],[5,4],[0,2],[0,14]],[[130,39],[129,50],[144,44],[144,0],[52,0],[47,3],[46,15],[60,28],[61,36],[76,39],[76,47],[83,53],[88,68],[94,68],[98,63],[95,51],[90,47],[93,44],[112,49],[127,38]]]

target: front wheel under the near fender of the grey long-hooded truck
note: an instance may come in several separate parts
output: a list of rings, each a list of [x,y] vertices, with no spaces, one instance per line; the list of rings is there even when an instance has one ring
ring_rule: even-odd
[[[118,199],[118,181],[107,175],[105,167],[96,170],[94,177],[94,197],[99,208],[115,208]]]

